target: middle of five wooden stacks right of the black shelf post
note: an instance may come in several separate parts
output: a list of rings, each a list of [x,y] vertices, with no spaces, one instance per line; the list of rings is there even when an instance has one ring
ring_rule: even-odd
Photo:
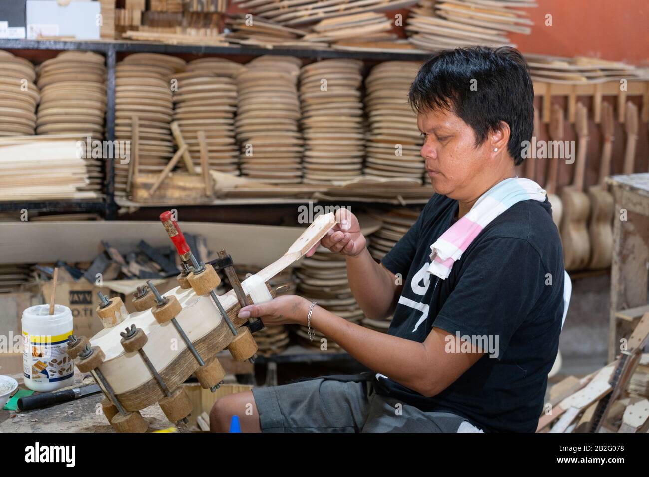
[[[303,140],[298,130],[297,99],[300,64],[293,56],[260,56],[235,76],[241,173],[256,182],[302,181]]]

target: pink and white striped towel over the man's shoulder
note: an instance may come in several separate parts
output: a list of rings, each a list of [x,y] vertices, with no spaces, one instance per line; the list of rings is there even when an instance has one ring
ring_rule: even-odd
[[[545,196],[545,190],[530,179],[510,177],[498,182],[482,194],[471,210],[430,246],[432,263],[428,267],[428,273],[445,280],[450,275],[453,263],[461,258],[489,222],[516,202],[530,199],[543,202]]]

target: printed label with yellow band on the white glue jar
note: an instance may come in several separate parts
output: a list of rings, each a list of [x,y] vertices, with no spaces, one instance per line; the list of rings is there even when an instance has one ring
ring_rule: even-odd
[[[75,374],[75,362],[67,356],[67,339],[72,330],[62,335],[37,336],[23,332],[23,373],[38,382],[56,382]]]

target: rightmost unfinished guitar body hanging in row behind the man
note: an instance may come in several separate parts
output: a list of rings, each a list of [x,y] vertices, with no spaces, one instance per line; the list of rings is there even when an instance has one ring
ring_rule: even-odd
[[[611,266],[613,253],[613,195],[599,186],[589,188],[591,213],[588,234],[591,241],[589,269],[603,269]]]

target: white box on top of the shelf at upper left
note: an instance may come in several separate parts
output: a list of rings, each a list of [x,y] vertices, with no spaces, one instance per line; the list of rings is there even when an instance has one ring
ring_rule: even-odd
[[[98,1],[73,1],[62,6],[55,0],[27,0],[27,38],[74,36],[77,40],[99,40],[100,14]]]

